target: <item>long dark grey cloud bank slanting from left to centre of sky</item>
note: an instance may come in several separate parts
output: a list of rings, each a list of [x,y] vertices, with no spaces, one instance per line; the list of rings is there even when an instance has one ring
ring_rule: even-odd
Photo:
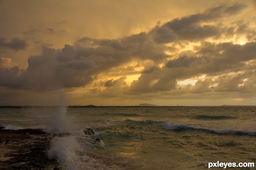
[[[62,49],[44,46],[41,55],[28,59],[28,68],[20,74],[20,88],[54,90],[81,87],[96,75],[133,59],[163,62],[169,55],[164,45],[157,45],[145,34],[135,34],[116,40],[83,38]],[[15,79],[11,75],[9,79]],[[13,87],[13,86],[10,86]]]

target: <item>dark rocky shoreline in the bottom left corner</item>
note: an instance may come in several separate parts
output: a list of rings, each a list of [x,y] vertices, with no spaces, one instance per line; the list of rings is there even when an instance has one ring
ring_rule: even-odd
[[[47,157],[51,136],[41,129],[0,127],[0,170],[61,170]]]

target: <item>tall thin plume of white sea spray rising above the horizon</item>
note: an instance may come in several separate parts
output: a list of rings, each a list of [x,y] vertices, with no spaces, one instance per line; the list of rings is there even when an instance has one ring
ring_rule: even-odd
[[[66,102],[64,91],[60,92],[60,105],[55,114],[50,117],[46,131],[48,133],[70,133],[70,122],[67,120]]]

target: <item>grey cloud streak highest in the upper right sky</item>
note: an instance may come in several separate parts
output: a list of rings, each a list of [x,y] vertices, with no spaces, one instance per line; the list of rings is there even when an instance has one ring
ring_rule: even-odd
[[[221,17],[238,14],[245,7],[242,4],[221,5],[203,13],[176,18],[163,26],[156,26],[151,30],[151,34],[157,43],[169,43],[177,38],[193,41],[209,37],[218,38],[227,32],[227,28],[222,28],[221,23],[212,25],[212,22],[216,22]],[[232,28],[228,29],[232,30]]]

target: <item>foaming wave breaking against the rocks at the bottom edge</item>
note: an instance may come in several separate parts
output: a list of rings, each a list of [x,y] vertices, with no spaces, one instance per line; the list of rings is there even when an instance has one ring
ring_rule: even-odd
[[[127,160],[114,159],[112,156],[99,155],[90,150],[95,146],[89,146],[91,138],[85,136],[62,136],[52,140],[48,150],[49,159],[56,159],[58,164],[66,170],[125,170],[138,167]]]

